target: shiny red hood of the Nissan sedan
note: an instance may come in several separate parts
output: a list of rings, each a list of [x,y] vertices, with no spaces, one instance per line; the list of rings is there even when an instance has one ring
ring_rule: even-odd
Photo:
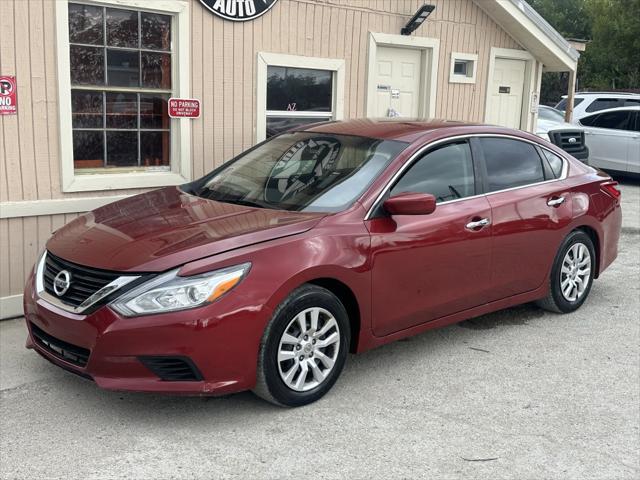
[[[324,216],[221,203],[167,187],[81,215],[55,233],[47,250],[94,268],[158,272],[305,232]]]

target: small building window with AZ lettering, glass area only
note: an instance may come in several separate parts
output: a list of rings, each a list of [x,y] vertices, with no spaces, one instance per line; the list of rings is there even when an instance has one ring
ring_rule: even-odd
[[[310,123],[331,120],[333,76],[330,70],[267,68],[267,138]]]

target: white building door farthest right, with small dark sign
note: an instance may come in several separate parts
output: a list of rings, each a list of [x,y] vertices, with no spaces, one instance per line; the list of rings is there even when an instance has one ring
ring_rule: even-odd
[[[487,123],[520,128],[526,65],[524,60],[496,58],[489,81]]]

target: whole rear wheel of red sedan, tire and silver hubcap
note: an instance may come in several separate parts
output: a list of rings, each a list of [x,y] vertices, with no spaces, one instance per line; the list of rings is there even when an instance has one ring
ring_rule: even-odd
[[[575,230],[564,240],[551,269],[549,294],[537,303],[542,308],[569,313],[587,299],[595,273],[595,249],[586,233]]]

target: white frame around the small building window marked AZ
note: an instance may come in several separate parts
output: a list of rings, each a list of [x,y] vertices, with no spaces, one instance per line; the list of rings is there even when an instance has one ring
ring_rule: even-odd
[[[281,112],[267,111],[267,69],[268,67],[308,68],[333,72],[331,112]],[[258,52],[256,85],[256,142],[267,138],[267,114],[295,117],[327,117],[333,120],[344,118],[344,77],[345,61],[341,58],[303,57],[280,53]]]

